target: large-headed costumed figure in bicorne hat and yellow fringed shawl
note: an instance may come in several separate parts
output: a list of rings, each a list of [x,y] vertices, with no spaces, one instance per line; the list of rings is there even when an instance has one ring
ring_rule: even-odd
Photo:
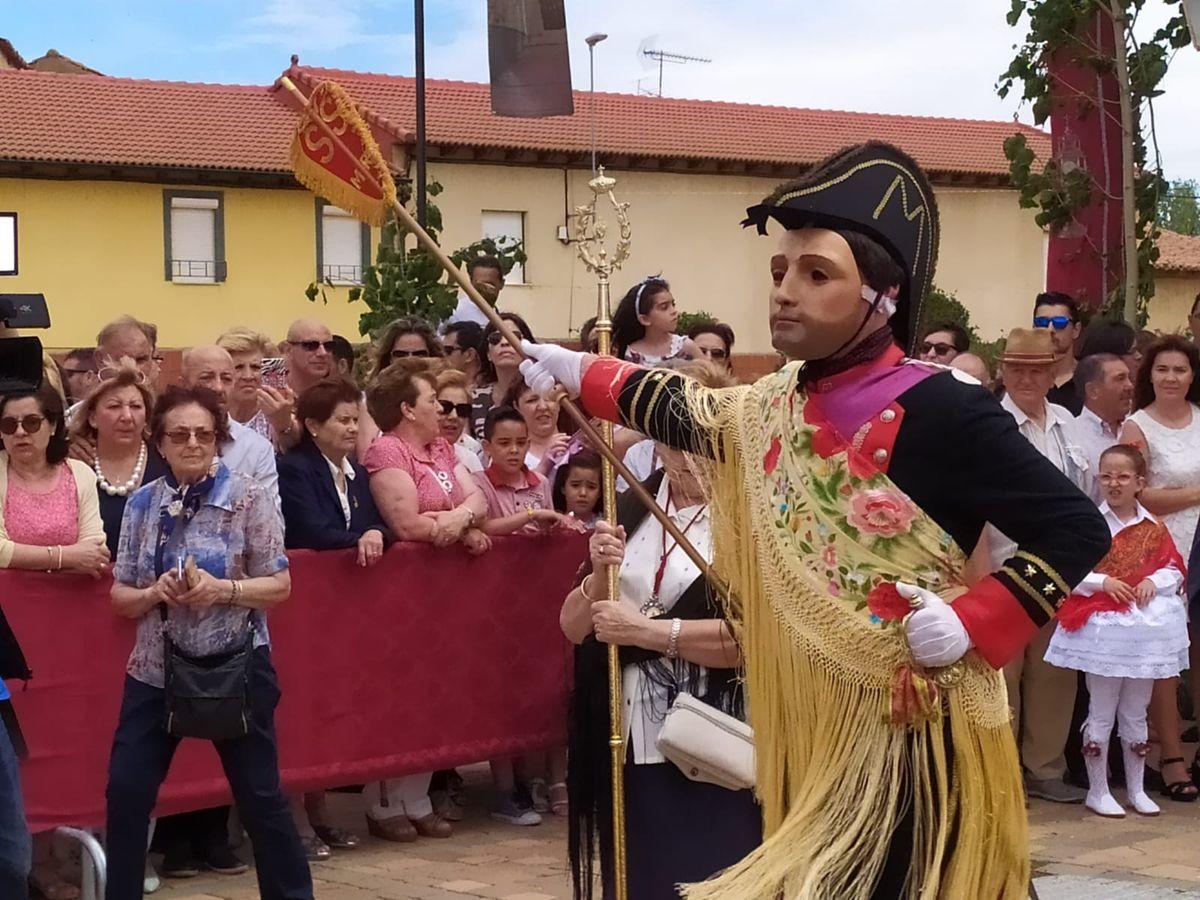
[[[894,146],[842,150],[749,210],[785,229],[773,343],[706,390],[524,344],[526,379],[701,460],[746,661],[763,845],[694,900],[1026,896],[1021,776],[998,668],[1104,556],[1092,503],[977,383],[908,359],[937,206]],[[800,360],[806,360],[802,362]],[[977,583],[991,522],[1018,544]]]

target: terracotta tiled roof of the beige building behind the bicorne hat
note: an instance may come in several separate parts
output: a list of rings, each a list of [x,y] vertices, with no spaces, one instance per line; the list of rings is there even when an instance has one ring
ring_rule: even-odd
[[[410,131],[415,121],[412,78],[294,66],[307,91],[331,78],[372,112]],[[491,113],[488,85],[426,82],[426,127],[433,144],[574,151],[590,148],[589,97],[575,94],[574,116],[503,119]],[[792,109],[697,100],[596,94],[596,134],[602,152],[622,156],[810,163],[847,144],[890,140],[930,172],[1003,175],[1004,138],[1030,136],[1039,156],[1050,136],[1003,121],[934,119],[827,109]]]

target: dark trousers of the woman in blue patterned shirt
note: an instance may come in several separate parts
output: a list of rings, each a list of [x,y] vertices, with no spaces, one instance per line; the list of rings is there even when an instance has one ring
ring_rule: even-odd
[[[250,671],[250,733],[218,740],[229,787],[250,832],[263,900],[312,900],[312,876],[287,798],[280,787],[275,707],[280,688],[265,647],[254,650]],[[167,778],[179,739],[167,733],[161,688],[125,679],[121,718],[108,763],[108,890],[106,900],[140,900],[146,833],[158,787]]]

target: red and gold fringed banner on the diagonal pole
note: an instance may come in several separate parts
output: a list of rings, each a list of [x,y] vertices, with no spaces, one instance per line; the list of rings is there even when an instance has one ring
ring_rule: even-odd
[[[292,140],[292,169],[310,191],[373,226],[386,222],[396,202],[396,184],[371,127],[335,82],[322,82],[308,96]]]

